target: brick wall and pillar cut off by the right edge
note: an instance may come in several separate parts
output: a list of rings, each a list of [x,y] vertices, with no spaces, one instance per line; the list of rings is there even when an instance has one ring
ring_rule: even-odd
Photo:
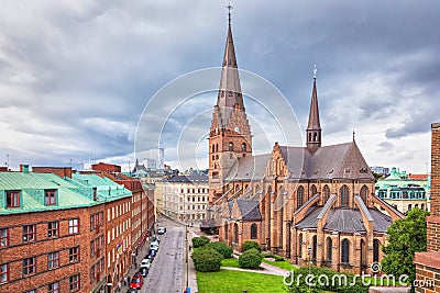
[[[427,217],[427,251],[417,252],[417,292],[440,292],[440,123],[431,124],[431,213]],[[424,283],[425,282],[425,283]],[[432,285],[431,282],[435,282]]]

